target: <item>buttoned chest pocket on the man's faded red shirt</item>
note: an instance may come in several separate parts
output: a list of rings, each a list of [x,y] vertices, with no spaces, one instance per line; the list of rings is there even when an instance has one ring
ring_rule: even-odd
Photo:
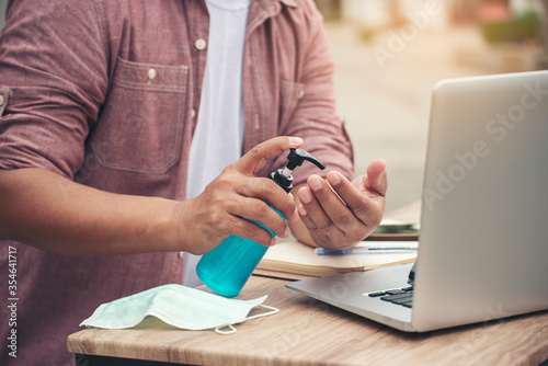
[[[91,139],[101,165],[161,174],[180,159],[187,72],[118,58]]]

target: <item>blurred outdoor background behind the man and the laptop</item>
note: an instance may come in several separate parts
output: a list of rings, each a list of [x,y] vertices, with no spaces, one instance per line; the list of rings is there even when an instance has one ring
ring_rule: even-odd
[[[335,58],[356,173],[376,158],[388,162],[387,211],[421,197],[437,81],[548,68],[548,0],[315,1]]]

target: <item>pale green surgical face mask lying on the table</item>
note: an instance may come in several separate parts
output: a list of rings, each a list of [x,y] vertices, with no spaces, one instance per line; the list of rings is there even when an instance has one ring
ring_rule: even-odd
[[[163,285],[101,305],[80,325],[124,329],[139,324],[147,316],[187,330],[215,329],[217,333],[230,334],[232,324],[270,316],[279,310],[262,302],[266,295],[253,300],[229,299],[182,285]],[[248,317],[249,311],[261,306],[271,311]],[[221,331],[229,327],[229,331]]]

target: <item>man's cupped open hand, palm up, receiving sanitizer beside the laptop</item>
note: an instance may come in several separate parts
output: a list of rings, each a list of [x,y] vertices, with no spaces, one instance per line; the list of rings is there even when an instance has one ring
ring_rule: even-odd
[[[294,235],[304,242],[351,248],[370,235],[383,219],[388,181],[386,162],[381,159],[373,161],[367,174],[352,183],[334,171],[328,173],[327,182],[310,175],[307,183],[298,188],[300,204],[297,208],[310,237],[304,236],[304,230],[296,225],[292,227]]]

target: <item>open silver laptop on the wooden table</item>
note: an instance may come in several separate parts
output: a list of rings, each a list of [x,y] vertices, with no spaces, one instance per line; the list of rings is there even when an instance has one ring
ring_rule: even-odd
[[[286,286],[410,332],[548,309],[548,71],[435,87],[413,271]]]

